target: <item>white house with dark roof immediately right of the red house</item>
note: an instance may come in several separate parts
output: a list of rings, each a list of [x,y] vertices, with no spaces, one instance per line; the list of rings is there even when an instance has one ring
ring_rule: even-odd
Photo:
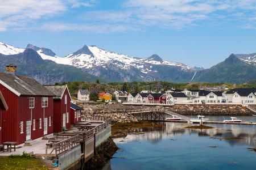
[[[166,104],[188,103],[188,97],[183,93],[168,93],[166,95]]]

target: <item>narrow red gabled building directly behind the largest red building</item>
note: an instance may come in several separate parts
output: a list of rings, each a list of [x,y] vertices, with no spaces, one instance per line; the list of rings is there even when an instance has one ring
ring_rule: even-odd
[[[53,132],[62,131],[63,128],[69,129],[71,125],[70,103],[71,95],[68,86],[44,86],[56,96],[53,97]]]

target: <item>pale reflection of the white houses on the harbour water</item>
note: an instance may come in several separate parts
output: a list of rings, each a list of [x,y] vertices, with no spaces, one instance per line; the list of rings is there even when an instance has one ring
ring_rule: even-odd
[[[243,138],[243,139],[226,139],[230,145],[251,145],[256,146],[256,126],[255,125],[225,125],[225,124],[208,124],[213,129],[186,129],[187,124],[166,122],[162,128],[158,129],[138,129],[137,132],[128,135],[126,138],[114,139],[114,142],[125,143],[132,141],[150,141],[158,143],[163,139],[174,138],[184,134],[195,134],[199,136],[209,136],[215,138]],[[143,133],[142,133],[143,131]]]

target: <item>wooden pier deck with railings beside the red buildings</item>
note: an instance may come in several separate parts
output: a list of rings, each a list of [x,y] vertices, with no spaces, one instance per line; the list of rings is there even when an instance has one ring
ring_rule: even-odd
[[[28,141],[17,146],[16,151],[1,152],[0,156],[21,155],[24,151],[43,159],[56,158],[60,169],[84,169],[110,135],[110,118],[93,116],[92,120],[79,122],[67,131]]]

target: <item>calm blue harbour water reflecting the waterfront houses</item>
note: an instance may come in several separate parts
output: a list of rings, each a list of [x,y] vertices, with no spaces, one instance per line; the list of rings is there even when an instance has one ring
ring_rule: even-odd
[[[123,158],[111,159],[105,169],[256,169],[256,152],[247,150],[256,147],[255,125],[210,124],[214,129],[208,130],[186,125],[166,122],[162,129],[138,129],[115,139],[121,150],[113,156]]]

